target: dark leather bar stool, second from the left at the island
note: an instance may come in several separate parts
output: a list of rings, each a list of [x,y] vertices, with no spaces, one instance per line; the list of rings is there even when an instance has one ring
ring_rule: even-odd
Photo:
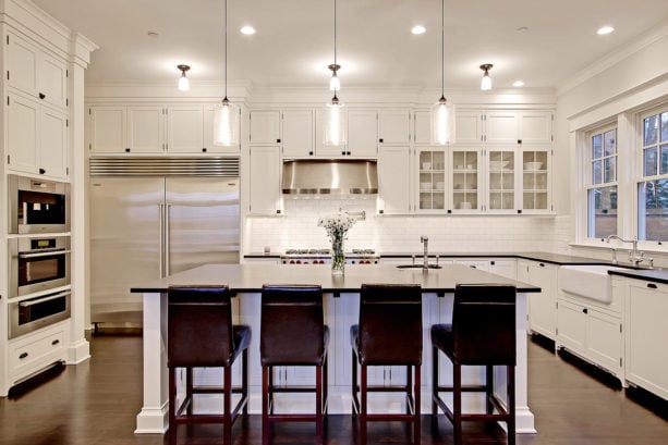
[[[262,295],[259,355],[263,366],[263,444],[274,422],[315,422],[323,444],[327,412],[329,329],[323,313],[323,289],[311,285],[265,285]],[[276,386],[274,367],[315,367],[313,386]],[[276,393],[315,393],[316,412],[275,413]]]

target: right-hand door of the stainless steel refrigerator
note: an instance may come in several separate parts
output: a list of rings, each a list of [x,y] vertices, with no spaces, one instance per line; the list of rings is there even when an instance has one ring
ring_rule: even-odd
[[[165,275],[239,262],[239,180],[167,177]]]

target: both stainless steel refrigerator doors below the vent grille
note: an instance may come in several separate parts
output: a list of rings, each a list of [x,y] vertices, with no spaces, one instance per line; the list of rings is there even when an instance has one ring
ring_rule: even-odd
[[[239,178],[90,177],[89,202],[93,323],[139,322],[147,277],[239,262]]]

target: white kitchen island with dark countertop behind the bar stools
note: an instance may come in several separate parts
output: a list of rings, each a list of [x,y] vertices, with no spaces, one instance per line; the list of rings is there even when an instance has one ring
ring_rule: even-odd
[[[527,406],[526,395],[526,293],[541,292],[538,287],[478,271],[461,264],[447,264],[442,269],[398,269],[387,264],[347,265],[344,275],[332,275],[327,264],[207,264],[165,279],[138,283],[133,293],[143,294],[144,321],[144,406],[137,415],[135,433],[163,433],[168,429],[168,370],[167,370],[167,289],[171,285],[221,285],[226,284],[236,294],[234,317],[236,323],[251,326],[253,337],[250,347],[250,411],[260,412],[259,364],[259,309],[264,284],[316,284],[325,293],[325,318],[331,331],[329,344],[329,413],[349,413],[351,410],[351,353],[350,325],[357,322],[359,293],[362,284],[420,284],[423,289],[423,363],[422,411],[430,412],[430,361],[429,326],[449,322],[452,316],[452,294],[457,284],[511,284],[518,288],[518,366],[515,382],[518,433],[533,433],[534,417]],[[392,383],[401,379],[401,370],[394,367],[378,367],[369,375],[376,384]],[[451,380],[450,368],[445,368],[441,381]],[[238,371],[238,370],[236,370]],[[471,367],[465,381],[477,382],[484,371]],[[505,379],[499,372],[495,380],[498,393],[503,394]],[[309,375],[297,370],[280,371],[277,380],[287,383],[304,381]],[[202,381],[216,381],[206,373]],[[219,379],[218,379],[219,381]],[[238,380],[236,380],[238,381]],[[309,382],[309,380],[308,380]],[[212,383],[212,382],[211,382]],[[284,409],[301,409],[300,399],[289,401]],[[379,399],[378,406],[402,409],[402,401]],[[474,406],[475,403],[473,404]],[[308,405],[306,405],[308,406]],[[373,409],[373,406],[372,406]]]

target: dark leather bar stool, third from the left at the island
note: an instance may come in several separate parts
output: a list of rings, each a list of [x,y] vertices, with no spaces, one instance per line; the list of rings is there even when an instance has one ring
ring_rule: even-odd
[[[357,444],[366,444],[367,422],[408,421],[420,444],[420,369],[422,364],[422,288],[418,285],[363,284],[360,323],[351,326],[353,415],[359,416]],[[357,366],[360,378],[357,381]],[[404,385],[368,385],[367,367],[405,366]],[[405,413],[367,413],[367,393],[403,392]]]

